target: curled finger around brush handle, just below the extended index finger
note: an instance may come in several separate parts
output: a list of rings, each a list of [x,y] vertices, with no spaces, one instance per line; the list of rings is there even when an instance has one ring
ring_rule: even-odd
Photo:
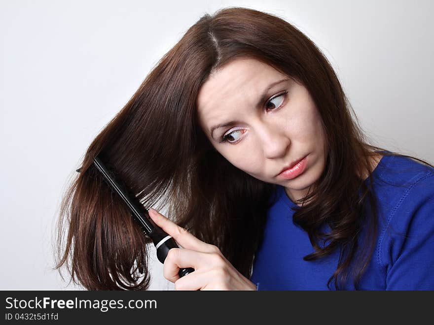
[[[171,281],[177,281],[180,268],[192,267],[194,272],[203,268],[204,263],[209,259],[209,253],[202,253],[186,248],[172,248],[167,254],[163,264],[164,277]],[[193,273],[194,273],[193,272]],[[192,274],[192,273],[191,273]]]

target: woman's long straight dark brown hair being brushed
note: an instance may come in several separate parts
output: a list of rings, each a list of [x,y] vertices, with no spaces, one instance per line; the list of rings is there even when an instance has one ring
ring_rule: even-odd
[[[90,144],[61,203],[55,268],[66,264],[71,279],[89,290],[149,286],[150,240],[92,165],[99,154],[145,207],[167,206],[171,219],[217,245],[250,277],[276,185],[226,161],[196,115],[201,85],[240,57],[255,58],[298,80],[315,101],[326,135],[326,166],[313,191],[296,202],[301,206],[293,219],[315,249],[305,260],[340,250],[327,285],[334,279],[336,289],[341,288],[353,260],[357,285],[372,255],[377,225],[375,209],[362,213],[363,202],[375,203],[375,197],[360,174],[371,175],[370,157],[384,149],[367,143],[335,72],[308,37],[277,16],[239,7],[205,14],[190,27]],[[321,233],[324,223],[330,233]],[[366,254],[355,258],[366,225]]]

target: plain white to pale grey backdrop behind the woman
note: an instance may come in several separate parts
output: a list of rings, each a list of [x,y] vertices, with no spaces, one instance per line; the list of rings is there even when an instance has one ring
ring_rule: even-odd
[[[221,7],[294,24],[324,51],[375,144],[434,162],[433,1],[0,3],[0,289],[80,289],[50,269],[67,182],[158,60]],[[152,274],[151,289],[173,289],[157,261]]]

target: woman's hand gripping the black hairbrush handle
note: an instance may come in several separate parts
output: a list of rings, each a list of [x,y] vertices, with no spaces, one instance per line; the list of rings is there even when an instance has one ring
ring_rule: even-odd
[[[182,246],[172,248],[164,261],[164,277],[175,283],[175,290],[256,290],[217,246],[199,240],[152,208],[148,212],[153,222]],[[184,267],[193,267],[194,272],[180,278],[178,271]]]

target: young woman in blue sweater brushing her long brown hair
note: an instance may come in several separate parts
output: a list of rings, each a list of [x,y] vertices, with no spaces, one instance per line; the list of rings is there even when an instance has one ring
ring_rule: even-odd
[[[368,144],[351,113],[288,22],[203,16],[89,146],[56,267],[90,290],[149,286],[150,240],[98,154],[146,208],[168,207],[149,214],[181,245],[164,263],[177,290],[433,290],[434,166]]]

